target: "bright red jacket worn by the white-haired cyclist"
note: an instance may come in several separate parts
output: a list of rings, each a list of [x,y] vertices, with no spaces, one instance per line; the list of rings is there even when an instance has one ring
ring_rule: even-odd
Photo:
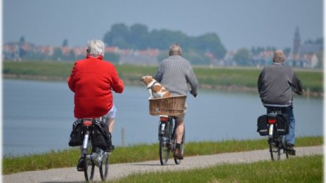
[[[75,62],[68,86],[74,92],[76,118],[98,118],[107,114],[113,105],[112,90],[116,93],[124,90],[115,66],[102,56],[87,56]]]

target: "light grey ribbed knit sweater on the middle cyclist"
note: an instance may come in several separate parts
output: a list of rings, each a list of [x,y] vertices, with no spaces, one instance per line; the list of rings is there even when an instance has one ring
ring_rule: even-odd
[[[172,55],[162,60],[155,79],[173,96],[187,95],[189,91],[194,96],[197,95],[198,81],[193,68],[188,60],[179,55]]]

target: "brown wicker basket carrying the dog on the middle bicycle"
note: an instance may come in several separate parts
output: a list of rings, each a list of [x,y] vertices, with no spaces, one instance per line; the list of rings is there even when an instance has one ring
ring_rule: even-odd
[[[150,115],[182,116],[186,95],[150,99]]]

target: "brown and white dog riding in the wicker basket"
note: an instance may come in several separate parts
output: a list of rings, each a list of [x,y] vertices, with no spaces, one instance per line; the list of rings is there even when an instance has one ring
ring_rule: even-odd
[[[153,79],[152,76],[143,76],[141,81],[143,81],[146,88],[148,89],[148,92],[150,93],[148,100],[152,98],[165,98],[171,96],[169,91],[164,88],[161,83]]]

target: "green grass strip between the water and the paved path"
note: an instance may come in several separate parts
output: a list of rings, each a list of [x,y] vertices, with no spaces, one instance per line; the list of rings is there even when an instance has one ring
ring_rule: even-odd
[[[316,146],[323,144],[322,137],[297,137],[296,146]],[[117,147],[110,156],[110,163],[132,163],[159,159],[158,144],[136,144],[129,147]],[[222,142],[187,142],[185,156],[220,154],[225,152],[251,151],[267,149],[266,139],[261,140],[226,140]],[[146,156],[144,156],[146,154]],[[29,156],[4,157],[3,174],[31,170],[65,168],[77,165],[79,148],[64,151],[51,151]]]

